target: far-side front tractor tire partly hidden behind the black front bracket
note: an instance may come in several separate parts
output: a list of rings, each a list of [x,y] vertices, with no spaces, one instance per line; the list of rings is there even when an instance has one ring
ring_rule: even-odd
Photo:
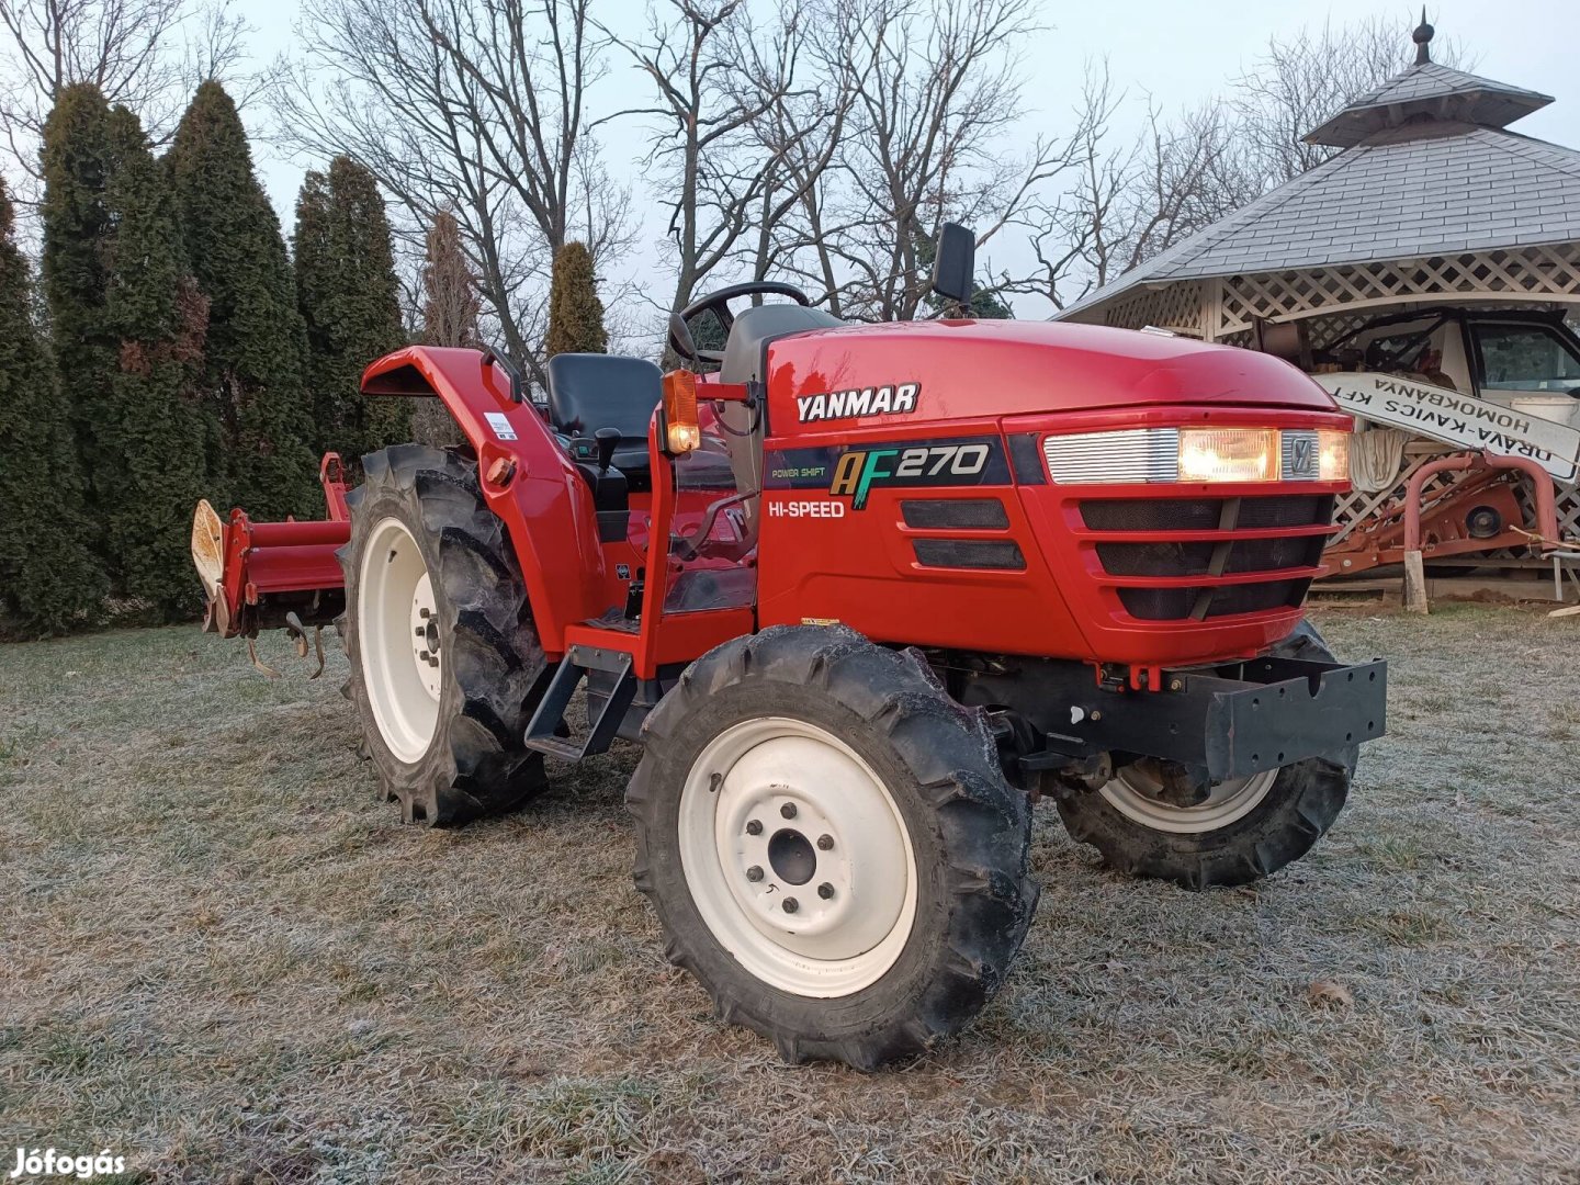
[[[1270,654],[1332,662],[1308,623]],[[1213,787],[1207,803],[1166,804],[1149,793],[1144,763],[1101,790],[1057,799],[1070,837],[1090,844],[1119,872],[1188,890],[1245,885],[1299,860],[1338,818],[1356,773],[1357,746]]]

